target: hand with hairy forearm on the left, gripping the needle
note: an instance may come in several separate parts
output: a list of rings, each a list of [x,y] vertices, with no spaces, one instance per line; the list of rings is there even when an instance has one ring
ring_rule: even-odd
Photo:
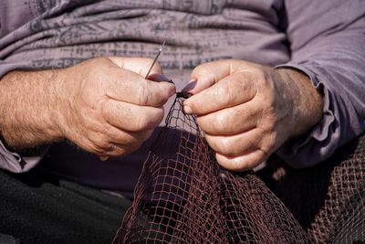
[[[168,82],[151,81],[167,81],[157,75],[162,73],[158,64],[151,80],[144,79],[151,63],[149,58],[93,58],[68,69],[5,76],[0,85],[23,96],[6,109],[0,104],[16,115],[1,122],[6,142],[21,148],[66,137],[102,156],[131,153],[162,121],[162,106],[175,92]],[[16,82],[18,89],[28,89],[26,94],[16,93]]]

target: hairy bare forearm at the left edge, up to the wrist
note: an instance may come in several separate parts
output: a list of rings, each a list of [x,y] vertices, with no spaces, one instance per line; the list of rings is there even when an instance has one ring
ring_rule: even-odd
[[[13,71],[0,80],[0,132],[14,150],[61,139],[57,128],[58,70]]]

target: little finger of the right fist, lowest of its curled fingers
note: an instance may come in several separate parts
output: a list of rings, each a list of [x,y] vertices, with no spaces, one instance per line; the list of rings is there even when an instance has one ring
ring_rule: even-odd
[[[266,154],[260,150],[236,157],[226,157],[222,154],[215,154],[215,157],[222,167],[239,172],[253,169],[266,160]]]

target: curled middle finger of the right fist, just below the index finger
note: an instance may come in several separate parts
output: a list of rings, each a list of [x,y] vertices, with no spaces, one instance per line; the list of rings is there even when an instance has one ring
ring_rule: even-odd
[[[262,111],[254,100],[198,117],[199,127],[212,135],[244,133],[255,128]]]

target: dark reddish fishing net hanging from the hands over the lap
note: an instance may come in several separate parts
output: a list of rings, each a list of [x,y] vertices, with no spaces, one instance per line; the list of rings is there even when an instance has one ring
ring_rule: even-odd
[[[183,114],[182,102],[183,96],[177,96],[166,126],[151,146],[133,205],[113,243],[308,243],[342,242],[351,235],[351,240],[364,238],[364,166],[359,165],[364,160],[356,156],[362,151],[355,151],[344,167],[339,159],[339,164],[304,171],[291,171],[274,159],[259,174],[266,185],[254,172],[234,173],[220,167],[195,117]],[[351,194],[346,192],[349,189]],[[343,226],[350,231],[343,231]]]

